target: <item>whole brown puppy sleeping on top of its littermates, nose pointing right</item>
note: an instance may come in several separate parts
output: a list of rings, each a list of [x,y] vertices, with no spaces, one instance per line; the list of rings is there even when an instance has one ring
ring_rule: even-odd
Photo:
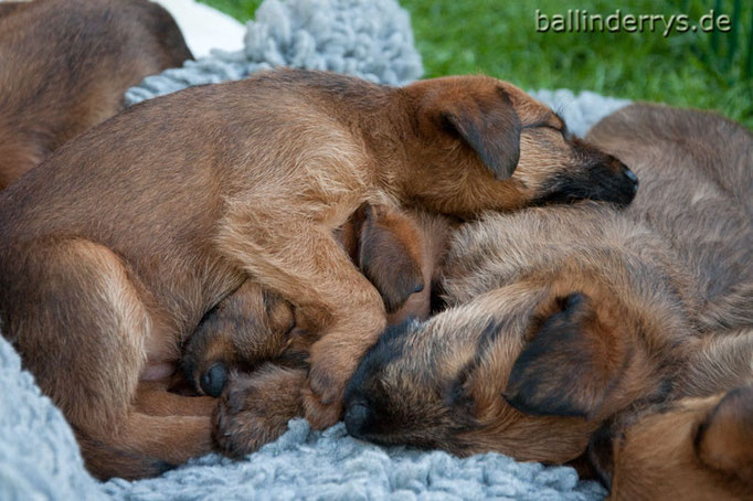
[[[562,127],[481,76],[392,88],[279,70],[139,104],[0,193],[3,334],[79,437],[137,465],[89,461],[96,475],[148,475],[209,450],[210,422],[139,412],[140,382],[170,374],[181,340],[251,277],[320,337],[305,414],[331,425],[386,323],[335,228],[367,202],[628,203],[635,175]],[[187,448],[176,428],[206,440]]]

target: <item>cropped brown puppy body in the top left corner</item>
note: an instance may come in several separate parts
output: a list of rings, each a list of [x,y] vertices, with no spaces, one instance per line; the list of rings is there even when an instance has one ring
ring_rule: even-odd
[[[126,89],[192,58],[147,0],[0,4],[0,190],[123,109]]]

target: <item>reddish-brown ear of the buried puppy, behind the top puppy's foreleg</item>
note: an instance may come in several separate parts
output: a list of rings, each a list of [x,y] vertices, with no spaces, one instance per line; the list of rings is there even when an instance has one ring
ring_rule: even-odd
[[[424,289],[417,241],[417,232],[405,218],[365,206],[359,266],[379,290],[388,313]]]

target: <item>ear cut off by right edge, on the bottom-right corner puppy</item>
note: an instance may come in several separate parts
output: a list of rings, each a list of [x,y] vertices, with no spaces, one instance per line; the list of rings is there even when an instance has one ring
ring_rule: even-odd
[[[696,435],[699,459],[753,484],[753,386],[729,392]]]

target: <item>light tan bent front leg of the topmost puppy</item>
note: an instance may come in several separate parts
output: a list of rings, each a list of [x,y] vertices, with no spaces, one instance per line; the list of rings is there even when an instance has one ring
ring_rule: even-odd
[[[386,315],[379,292],[331,228],[278,218],[234,214],[220,244],[262,285],[294,301],[312,330],[325,332],[311,348],[310,387],[304,391],[306,417],[324,428],[340,418],[344,386],[383,330]]]

